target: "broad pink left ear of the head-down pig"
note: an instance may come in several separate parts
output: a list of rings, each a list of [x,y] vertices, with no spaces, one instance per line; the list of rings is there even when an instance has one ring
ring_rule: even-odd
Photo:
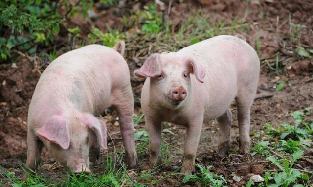
[[[61,116],[52,116],[48,122],[37,131],[38,136],[60,145],[63,149],[69,147],[68,121]]]

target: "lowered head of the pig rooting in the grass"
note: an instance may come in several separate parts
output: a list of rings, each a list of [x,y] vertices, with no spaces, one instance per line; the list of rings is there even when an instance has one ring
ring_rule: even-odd
[[[73,112],[69,116],[52,116],[36,130],[36,134],[52,156],[74,173],[90,173],[90,148],[107,148],[105,124],[87,113]]]

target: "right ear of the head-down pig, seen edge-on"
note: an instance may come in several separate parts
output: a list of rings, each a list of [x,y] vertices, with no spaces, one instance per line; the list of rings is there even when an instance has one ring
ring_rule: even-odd
[[[103,149],[107,149],[108,142],[107,142],[107,127],[103,123],[102,120],[97,119],[96,117],[90,115],[90,114],[85,114],[84,116],[84,123],[85,125],[93,130],[95,134],[97,135],[98,138],[98,143]]]

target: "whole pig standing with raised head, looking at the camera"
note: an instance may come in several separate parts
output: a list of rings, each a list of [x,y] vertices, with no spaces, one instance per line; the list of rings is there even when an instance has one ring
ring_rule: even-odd
[[[235,99],[238,108],[240,150],[250,148],[250,107],[258,85],[260,63],[255,50],[234,36],[217,36],[178,52],[151,55],[134,71],[147,78],[141,93],[150,142],[150,167],[160,164],[161,122],[187,127],[182,173],[194,170],[203,123],[219,122],[218,155],[229,150]]]

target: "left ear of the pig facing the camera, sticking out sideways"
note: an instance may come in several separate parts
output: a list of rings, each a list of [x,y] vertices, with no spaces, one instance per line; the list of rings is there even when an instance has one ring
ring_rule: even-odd
[[[134,71],[134,77],[138,80],[154,78],[162,73],[160,65],[160,54],[152,54],[140,69]]]

